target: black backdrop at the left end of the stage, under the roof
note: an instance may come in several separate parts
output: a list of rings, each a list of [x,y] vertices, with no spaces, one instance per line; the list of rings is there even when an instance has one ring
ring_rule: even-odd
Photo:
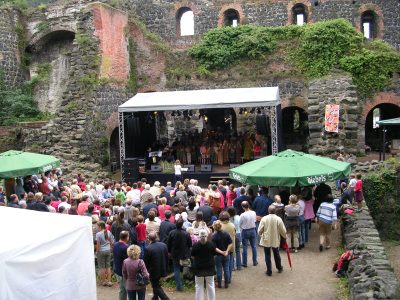
[[[157,142],[155,117],[152,112],[136,112],[125,120],[125,157],[144,157]]]

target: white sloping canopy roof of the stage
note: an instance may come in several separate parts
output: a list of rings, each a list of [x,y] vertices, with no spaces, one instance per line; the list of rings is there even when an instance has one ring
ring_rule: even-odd
[[[138,93],[120,105],[118,111],[259,107],[276,106],[280,103],[278,87],[169,91]]]

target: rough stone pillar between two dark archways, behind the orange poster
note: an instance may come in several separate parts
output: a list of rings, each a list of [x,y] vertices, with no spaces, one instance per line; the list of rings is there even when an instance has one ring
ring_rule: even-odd
[[[327,104],[339,104],[339,132],[325,132]],[[310,82],[308,96],[309,152],[328,154],[339,149],[355,153],[358,148],[360,103],[352,81],[347,76],[329,76]]]

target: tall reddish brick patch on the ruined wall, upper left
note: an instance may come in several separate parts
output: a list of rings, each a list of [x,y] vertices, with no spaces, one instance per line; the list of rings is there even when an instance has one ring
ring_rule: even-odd
[[[128,40],[125,36],[128,16],[100,3],[92,7],[95,35],[100,39],[100,76],[125,83],[129,77]]]

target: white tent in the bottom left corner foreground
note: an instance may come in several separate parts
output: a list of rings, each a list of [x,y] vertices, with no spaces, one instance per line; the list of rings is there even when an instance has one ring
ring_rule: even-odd
[[[91,218],[0,207],[0,299],[96,299]]]

